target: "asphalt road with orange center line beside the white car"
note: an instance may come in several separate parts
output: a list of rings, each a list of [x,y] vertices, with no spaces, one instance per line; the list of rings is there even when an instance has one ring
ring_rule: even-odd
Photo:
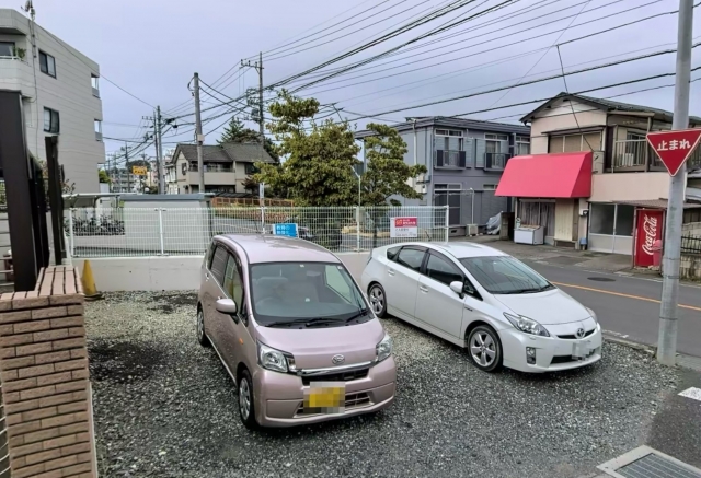
[[[662,282],[600,273],[576,267],[529,266],[596,312],[605,330],[628,340],[656,345]],[[701,288],[679,288],[678,351],[701,357]]]

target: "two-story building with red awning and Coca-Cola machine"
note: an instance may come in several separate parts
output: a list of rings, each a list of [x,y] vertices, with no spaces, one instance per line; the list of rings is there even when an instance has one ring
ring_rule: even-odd
[[[561,93],[521,121],[530,124],[532,155],[513,159],[496,191],[517,198],[521,224],[544,228],[550,244],[627,255],[639,224],[663,237],[669,175],[645,136],[671,129],[671,113]],[[691,117],[689,127],[698,126]],[[699,166],[701,151],[688,162]],[[688,198],[685,214],[698,207]]]

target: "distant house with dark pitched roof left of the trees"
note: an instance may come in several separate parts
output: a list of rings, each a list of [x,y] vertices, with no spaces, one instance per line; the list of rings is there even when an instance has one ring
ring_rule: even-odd
[[[243,193],[246,177],[255,174],[255,163],[276,161],[260,143],[203,145],[204,193]],[[180,143],[165,164],[168,194],[199,193],[197,147]]]

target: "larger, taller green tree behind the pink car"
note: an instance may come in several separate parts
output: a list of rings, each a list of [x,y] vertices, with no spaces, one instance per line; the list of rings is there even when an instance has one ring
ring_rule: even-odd
[[[258,183],[275,191],[287,191],[300,206],[352,206],[356,185],[353,166],[360,148],[347,121],[327,119],[318,124],[319,102],[283,91],[269,106],[268,125],[277,144],[275,152],[285,158],[280,165],[261,164],[254,175]]]

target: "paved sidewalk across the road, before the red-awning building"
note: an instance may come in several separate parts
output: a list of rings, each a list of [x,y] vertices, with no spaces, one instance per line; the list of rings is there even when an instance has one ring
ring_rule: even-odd
[[[485,244],[521,260],[533,260],[552,266],[578,267],[585,270],[602,270],[607,272],[625,272],[659,277],[657,272],[632,269],[631,257],[620,254],[575,250],[550,245],[533,246],[528,244],[516,244],[513,241],[499,241],[497,237],[491,235],[451,237],[450,241],[467,241]]]

